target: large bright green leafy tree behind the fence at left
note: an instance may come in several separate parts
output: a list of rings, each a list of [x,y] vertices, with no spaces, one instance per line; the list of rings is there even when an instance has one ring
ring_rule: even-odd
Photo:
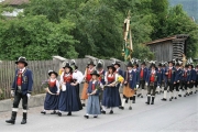
[[[0,58],[15,59],[21,55],[28,59],[48,59],[52,55],[77,57],[74,48],[77,41],[68,35],[74,28],[69,21],[56,24],[43,15],[0,21]]]

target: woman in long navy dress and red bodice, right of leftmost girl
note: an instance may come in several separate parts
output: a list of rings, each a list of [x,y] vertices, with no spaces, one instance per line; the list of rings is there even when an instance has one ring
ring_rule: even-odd
[[[65,72],[61,76],[62,91],[59,94],[58,116],[62,117],[62,112],[68,112],[67,116],[72,116],[72,111],[79,111],[82,109],[79,96],[77,96],[78,78],[73,76],[73,68],[69,63],[65,65]]]

